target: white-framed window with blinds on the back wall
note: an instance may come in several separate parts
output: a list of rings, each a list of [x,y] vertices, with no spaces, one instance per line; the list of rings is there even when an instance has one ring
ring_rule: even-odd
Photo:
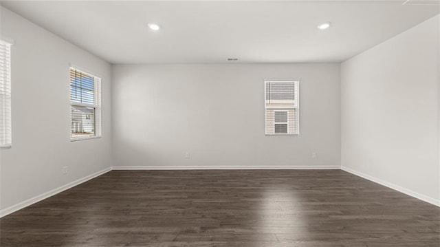
[[[265,134],[299,134],[299,81],[265,82]]]

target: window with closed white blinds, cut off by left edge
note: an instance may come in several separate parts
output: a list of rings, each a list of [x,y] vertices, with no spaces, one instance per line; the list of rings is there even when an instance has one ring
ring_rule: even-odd
[[[11,145],[11,44],[0,40],[0,148]]]

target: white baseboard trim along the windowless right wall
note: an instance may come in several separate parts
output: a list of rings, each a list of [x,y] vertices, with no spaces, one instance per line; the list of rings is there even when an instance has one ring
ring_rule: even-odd
[[[390,189],[393,189],[395,191],[399,191],[399,192],[404,193],[406,195],[410,195],[410,196],[415,197],[415,198],[417,198],[419,200],[422,200],[423,202],[428,202],[430,204],[434,204],[435,206],[440,206],[440,200],[436,200],[436,199],[434,199],[432,197],[428,197],[426,195],[422,195],[421,193],[417,193],[415,191],[411,191],[410,189],[406,189],[406,188],[404,188],[402,186],[393,184],[391,182],[386,182],[384,180],[381,180],[380,178],[375,178],[372,175],[368,175],[366,173],[362,173],[360,171],[356,171],[354,169],[351,169],[349,167],[344,167],[344,166],[341,167],[341,170],[342,171],[347,171],[348,173],[351,173],[353,175],[357,175],[357,176],[359,176],[361,178],[365,178],[366,180],[370,180],[371,182],[375,182],[377,184],[381,184],[383,186],[386,186],[386,187],[388,187]]]

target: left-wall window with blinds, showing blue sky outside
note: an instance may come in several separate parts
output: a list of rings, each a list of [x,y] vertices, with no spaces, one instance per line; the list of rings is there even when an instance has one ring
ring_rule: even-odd
[[[101,136],[101,78],[70,68],[71,140]]]

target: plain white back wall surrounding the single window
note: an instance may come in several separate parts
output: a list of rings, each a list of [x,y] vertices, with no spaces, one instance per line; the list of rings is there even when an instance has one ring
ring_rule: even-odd
[[[113,65],[112,72],[115,166],[340,166],[338,63]],[[264,80],[293,78],[301,79],[300,136],[265,136]]]

